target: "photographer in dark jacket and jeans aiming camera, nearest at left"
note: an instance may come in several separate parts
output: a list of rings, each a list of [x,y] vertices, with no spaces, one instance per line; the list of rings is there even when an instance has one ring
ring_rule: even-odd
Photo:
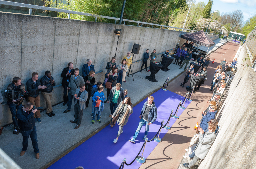
[[[35,156],[39,158],[39,150],[37,147],[37,138],[36,138],[36,126],[34,113],[37,111],[36,107],[33,107],[33,104],[26,102],[25,106],[22,106],[17,111],[17,117],[19,120],[19,126],[21,130],[21,135],[23,137],[22,141],[22,151],[20,155],[23,156],[28,148],[28,138],[32,141],[32,146],[34,148]]]

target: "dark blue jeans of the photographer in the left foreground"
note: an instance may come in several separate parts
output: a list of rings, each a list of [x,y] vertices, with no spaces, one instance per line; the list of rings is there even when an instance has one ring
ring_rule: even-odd
[[[32,146],[34,148],[34,152],[37,154],[39,152],[39,150],[38,150],[38,147],[37,147],[36,126],[34,126],[32,130],[28,130],[28,131],[22,131],[21,130],[21,135],[23,137],[22,151],[27,150],[27,148],[28,148],[28,138],[30,136],[30,139],[32,141]]]

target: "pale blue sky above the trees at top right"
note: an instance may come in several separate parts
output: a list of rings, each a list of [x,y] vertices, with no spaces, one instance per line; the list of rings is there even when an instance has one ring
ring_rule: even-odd
[[[197,0],[196,2],[199,2]],[[201,0],[208,3],[209,0]],[[219,10],[222,12],[232,12],[242,10],[244,14],[244,22],[256,12],[256,0],[213,0],[212,11]]]

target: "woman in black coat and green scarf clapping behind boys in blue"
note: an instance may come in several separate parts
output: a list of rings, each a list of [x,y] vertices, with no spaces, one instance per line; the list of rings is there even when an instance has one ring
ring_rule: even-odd
[[[88,98],[85,102],[85,108],[88,107],[88,104],[90,102],[90,97],[91,97],[91,93],[92,93],[92,86],[95,84],[95,78],[94,78],[94,75],[95,75],[95,71],[91,70],[89,72],[89,74],[87,76],[84,77],[84,82],[85,82],[85,90],[88,92]]]

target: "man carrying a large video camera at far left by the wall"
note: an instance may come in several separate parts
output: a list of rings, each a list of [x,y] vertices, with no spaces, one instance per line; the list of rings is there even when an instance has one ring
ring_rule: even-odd
[[[12,79],[12,83],[7,86],[7,90],[14,90],[15,92],[25,92],[25,86],[21,83],[21,78],[14,77]],[[8,98],[7,104],[10,108],[10,111],[12,113],[12,122],[14,126],[18,126],[18,121],[16,118],[16,112],[19,110],[22,106],[23,98],[20,99],[12,99]],[[16,132],[19,134],[19,131]]]

